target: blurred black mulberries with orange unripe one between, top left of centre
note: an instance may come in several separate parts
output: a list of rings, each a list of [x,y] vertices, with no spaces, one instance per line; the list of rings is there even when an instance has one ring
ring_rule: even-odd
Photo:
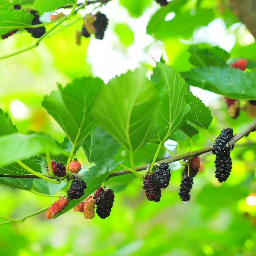
[[[95,33],[96,39],[102,40],[104,37],[105,30],[108,26],[108,18],[104,13],[101,13],[101,12],[96,13],[94,17],[96,18],[96,20],[94,20],[91,24],[88,24],[88,25],[90,26],[90,29],[92,31],[95,30],[94,33]],[[84,37],[90,37],[90,33],[92,32],[90,31],[88,32],[85,25],[83,24],[81,35]]]

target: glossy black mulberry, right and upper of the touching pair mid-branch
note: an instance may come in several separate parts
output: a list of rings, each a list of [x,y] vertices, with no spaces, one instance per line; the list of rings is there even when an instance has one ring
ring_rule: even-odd
[[[167,188],[171,178],[168,164],[161,163],[153,173],[154,185],[157,188]]]

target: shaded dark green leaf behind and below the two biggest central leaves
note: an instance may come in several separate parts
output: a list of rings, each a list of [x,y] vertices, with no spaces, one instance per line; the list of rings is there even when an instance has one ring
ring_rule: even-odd
[[[100,126],[82,144],[82,149],[90,163],[99,163],[105,158],[115,156],[119,148],[120,144]]]

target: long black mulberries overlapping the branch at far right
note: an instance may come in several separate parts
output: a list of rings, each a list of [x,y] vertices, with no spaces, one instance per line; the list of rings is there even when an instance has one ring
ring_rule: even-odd
[[[215,177],[219,182],[226,181],[232,169],[230,150],[234,148],[234,145],[232,147],[226,147],[226,144],[233,137],[233,129],[223,129],[212,147],[212,153],[216,155],[216,160],[214,161],[216,168]]]

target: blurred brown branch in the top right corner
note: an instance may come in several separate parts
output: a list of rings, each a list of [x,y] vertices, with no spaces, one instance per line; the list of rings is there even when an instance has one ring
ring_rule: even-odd
[[[245,24],[256,40],[255,0],[227,0],[230,10]]]

